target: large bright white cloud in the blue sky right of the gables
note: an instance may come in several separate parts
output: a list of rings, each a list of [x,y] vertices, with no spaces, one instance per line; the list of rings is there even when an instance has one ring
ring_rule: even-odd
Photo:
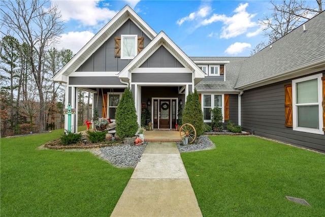
[[[239,4],[239,6],[234,10],[235,14],[233,16],[229,17],[224,14],[213,14],[210,18],[204,19],[201,24],[209,25],[213,22],[221,21],[224,25],[222,26],[220,38],[234,38],[246,33],[248,28],[258,25],[258,23],[252,21],[252,18],[256,14],[249,14],[246,11],[247,7],[248,3]]]

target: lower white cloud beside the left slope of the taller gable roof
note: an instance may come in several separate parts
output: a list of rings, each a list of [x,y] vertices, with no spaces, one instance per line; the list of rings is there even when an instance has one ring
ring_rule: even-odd
[[[89,31],[62,34],[60,39],[61,43],[59,43],[56,48],[58,50],[62,48],[70,49],[76,54],[93,36],[94,34]]]

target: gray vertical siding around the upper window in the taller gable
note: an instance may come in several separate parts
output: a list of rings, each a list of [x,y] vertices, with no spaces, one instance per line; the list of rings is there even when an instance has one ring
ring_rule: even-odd
[[[96,50],[76,71],[77,72],[119,72],[131,60],[114,56],[114,37],[138,35],[144,37],[144,47],[151,40],[131,20],[127,20],[98,50]]]

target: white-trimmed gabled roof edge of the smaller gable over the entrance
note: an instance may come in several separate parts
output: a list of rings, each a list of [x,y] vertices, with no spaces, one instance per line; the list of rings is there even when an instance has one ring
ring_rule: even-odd
[[[131,72],[140,67],[160,46],[164,46],[184,67],[194,73],[194,83],[204,77],[204,72],[163,32],[161,31],[124,69],[118,74],[119,78],[130,78]]]

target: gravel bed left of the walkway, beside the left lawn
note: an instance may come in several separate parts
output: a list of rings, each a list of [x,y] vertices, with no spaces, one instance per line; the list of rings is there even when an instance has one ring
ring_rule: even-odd
[[[89,149],[90,152],[99,158],[110,162],[116,167],[137,166],[143,153],[146,143],[143,145],[114,145],[103,148]]]

